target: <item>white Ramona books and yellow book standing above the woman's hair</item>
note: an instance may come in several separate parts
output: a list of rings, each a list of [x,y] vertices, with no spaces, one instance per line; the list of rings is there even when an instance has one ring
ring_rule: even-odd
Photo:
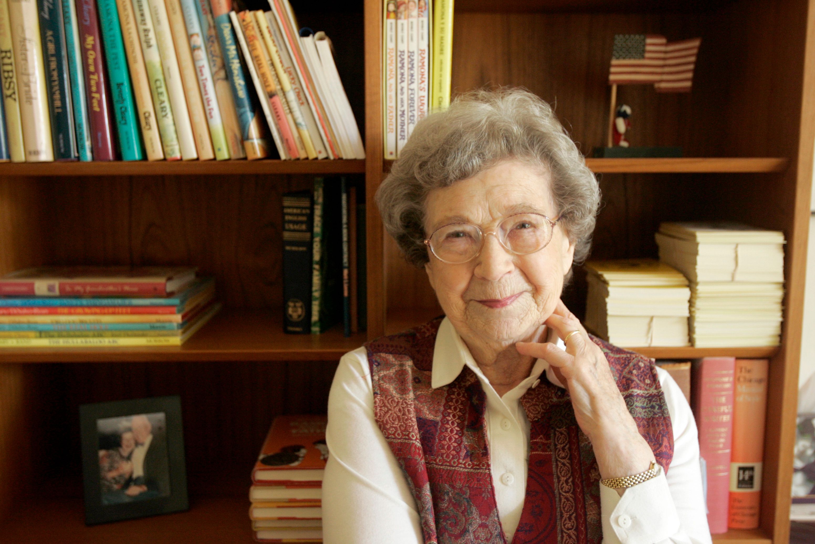
[[[450,105],[453,0],[385,0],[382,134],[396,159],[413,127]]]

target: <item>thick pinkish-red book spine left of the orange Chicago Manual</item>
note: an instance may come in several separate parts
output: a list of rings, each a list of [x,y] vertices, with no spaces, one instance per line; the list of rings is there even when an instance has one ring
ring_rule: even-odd
[[[711,534],[727,532],[734,368],[735,359],[731,357],[694,362],[691,395],[699,432],[699,455],[707,468],[707,524]]]

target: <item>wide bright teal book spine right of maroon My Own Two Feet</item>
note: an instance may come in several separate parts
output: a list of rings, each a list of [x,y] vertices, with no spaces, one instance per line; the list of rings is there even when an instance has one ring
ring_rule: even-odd
[[[125,42],[121,38],[116,0],[97,0],[97,4],[121,160],[143,160],[141,128],[136,118],[133,86],[130,85],[130,70],[127,68]]]

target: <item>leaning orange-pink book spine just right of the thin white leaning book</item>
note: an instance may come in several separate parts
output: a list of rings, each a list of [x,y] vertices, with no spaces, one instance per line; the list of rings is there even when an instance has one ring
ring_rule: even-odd
[[[289,120],[286,119],[286,113],[280,95],[277,93],[275,81],[271,76],[271,63],[266,51],[263,49],[263,43],[258,35],[258,28],[254,24],[254,18],[249,11],[242,11],[238,16],[244,29],[249,55],[252,56],[254,68],[258,73],[258,82],[261,84],[262,93],[269,104],[271,113],[269,126],[277,132],[275,135],[280,140],[280,147],[282,148],[280,151],[283,151],[280,156],[289,156],[289,158],[296,159],[300,156],[300,153],[297,150],[297,143],[294,141],[291,127],[289,127]],[[258,92],[260,91],[258,90]]]

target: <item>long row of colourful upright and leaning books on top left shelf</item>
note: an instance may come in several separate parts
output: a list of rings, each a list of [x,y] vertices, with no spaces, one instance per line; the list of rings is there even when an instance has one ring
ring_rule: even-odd
[[[0,160],[363,159],[289,0],[0,0]]]

